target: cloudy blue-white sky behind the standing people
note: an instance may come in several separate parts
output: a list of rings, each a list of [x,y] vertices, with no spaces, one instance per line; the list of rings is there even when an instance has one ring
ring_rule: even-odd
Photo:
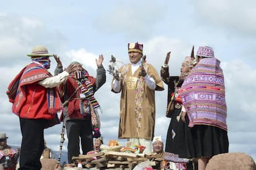
[[[2,1],[0,6],[0,132],[8,144],[20,145],[19,118],[11,113],[8,84],[28,63],[33,46],[45,45],[58,54],[64,67],[83,63],[96,75],[95,59],[103,54],[108,68],[111,55],[129,62],[127,43],[144,45],[147,62],[158,73],[168,51],[172,75],[195,45],[211,46],[221,60],[228,105],[229,152],[244,152],[256,160],[256,1],[250,0],[111,0],[111,1]],[[51,62],[51,73],[56,67]],[[117,140],[119,94],[110,91],[111,75],[95,96],[103,108],[101,132],[107,144]],[[156,92],[155,135],[166,139],[167,86]],[[62,124],[45,130],[48,147],[59,150]],[[125,140],[119,140],[124,144]],[[67,150],[67,140],[63,150]]]

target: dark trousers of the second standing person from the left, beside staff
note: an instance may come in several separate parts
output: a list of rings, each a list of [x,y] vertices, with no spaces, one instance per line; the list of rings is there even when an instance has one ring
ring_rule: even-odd
[[[67,157],[69,163],[73,163],[72,157],[80,154],[80,139],[83,155],[93,150],[92,123],[90,119],[71,119],[66,122],[66,128],[69,139]]]

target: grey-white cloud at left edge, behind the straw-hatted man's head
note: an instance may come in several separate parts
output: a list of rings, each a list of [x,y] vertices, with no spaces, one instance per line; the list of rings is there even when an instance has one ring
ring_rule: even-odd
[[[65,41],[61,33],[48,31],[38,18],[6,14],[0,19],[0,65],[3,67],[25,65],[33,46],[45,45],[51,53],[53,49],[61,48]]]

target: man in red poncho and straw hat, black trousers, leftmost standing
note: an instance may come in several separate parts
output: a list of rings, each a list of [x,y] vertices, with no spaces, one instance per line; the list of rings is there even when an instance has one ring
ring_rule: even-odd
[[[45,46],[36,46],[28,54],[32,62],[15,76],[7,95],[12,112],[19,116],[22,132],[20,170],[41,169],[40,156],[45,148],[44,129],[59,123],[62,103],[56,89],[72,70],[72,65],[57,76],[48,72],[49,54]]]

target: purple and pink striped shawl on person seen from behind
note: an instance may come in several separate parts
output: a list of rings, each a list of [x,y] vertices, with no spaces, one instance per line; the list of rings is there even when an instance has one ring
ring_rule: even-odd
[[[227,131],[227,108],[220,60],[201,59],[181,86],[179,94],[189,116],[189,127],[206,124]]]

